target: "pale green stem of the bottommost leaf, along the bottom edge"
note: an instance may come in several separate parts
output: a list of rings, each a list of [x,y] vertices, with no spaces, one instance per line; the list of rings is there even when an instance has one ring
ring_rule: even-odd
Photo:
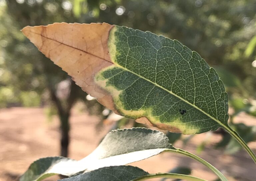
[[[189,181],[207,181],[198,177],[193,177],[190,175],[183,175],[183,174],[177,174],[177,173],[156,173],[156,174],[149,174],[144,175],[142,177],[138,177],[136,179],[133,179],[132,181],[143,181],[148,180],[152,178],[175,178],[175,179],[184,179]]]

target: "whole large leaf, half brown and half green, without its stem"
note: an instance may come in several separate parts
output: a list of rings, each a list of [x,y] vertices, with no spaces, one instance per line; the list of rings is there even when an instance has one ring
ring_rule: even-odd
[[[117,114],[183,134],[227,125],[222,81],[198,53],[176,40],[106,23],[55,23],[22,32]]]

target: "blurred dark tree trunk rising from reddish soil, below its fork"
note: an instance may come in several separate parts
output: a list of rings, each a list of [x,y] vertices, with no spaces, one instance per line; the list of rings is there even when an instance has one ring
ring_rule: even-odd
[[[61,120],[61,142],[60,142],[60,155],[64,157],[68,157],[68,145],[70,141],[69,137],[69,114],[62,115],[60,117]]]

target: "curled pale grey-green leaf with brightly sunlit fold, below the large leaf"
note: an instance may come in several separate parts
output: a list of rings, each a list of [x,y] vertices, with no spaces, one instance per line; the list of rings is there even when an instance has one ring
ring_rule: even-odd
[[[73,176],[106,166],[125,165],[172,148],[166,135],[159,131],[146,128],[114,130],[87,157],[79,161],[58,156],[38,159],[19,181],[40,181],[55,174]]]

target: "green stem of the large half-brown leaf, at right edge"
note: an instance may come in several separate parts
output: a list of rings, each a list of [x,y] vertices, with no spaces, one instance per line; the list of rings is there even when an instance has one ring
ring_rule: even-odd
[[[233,138],[235,138],[241,146],[249,153],[249,155],[252,157],[253,161],[256,163],[256,155],[255,153],[251,150],[251,148],[246,144],[246,142],[238,135],[238,133],[233,130],[229,125],[225,126],[222,125],[224,130],[226,130]]]

